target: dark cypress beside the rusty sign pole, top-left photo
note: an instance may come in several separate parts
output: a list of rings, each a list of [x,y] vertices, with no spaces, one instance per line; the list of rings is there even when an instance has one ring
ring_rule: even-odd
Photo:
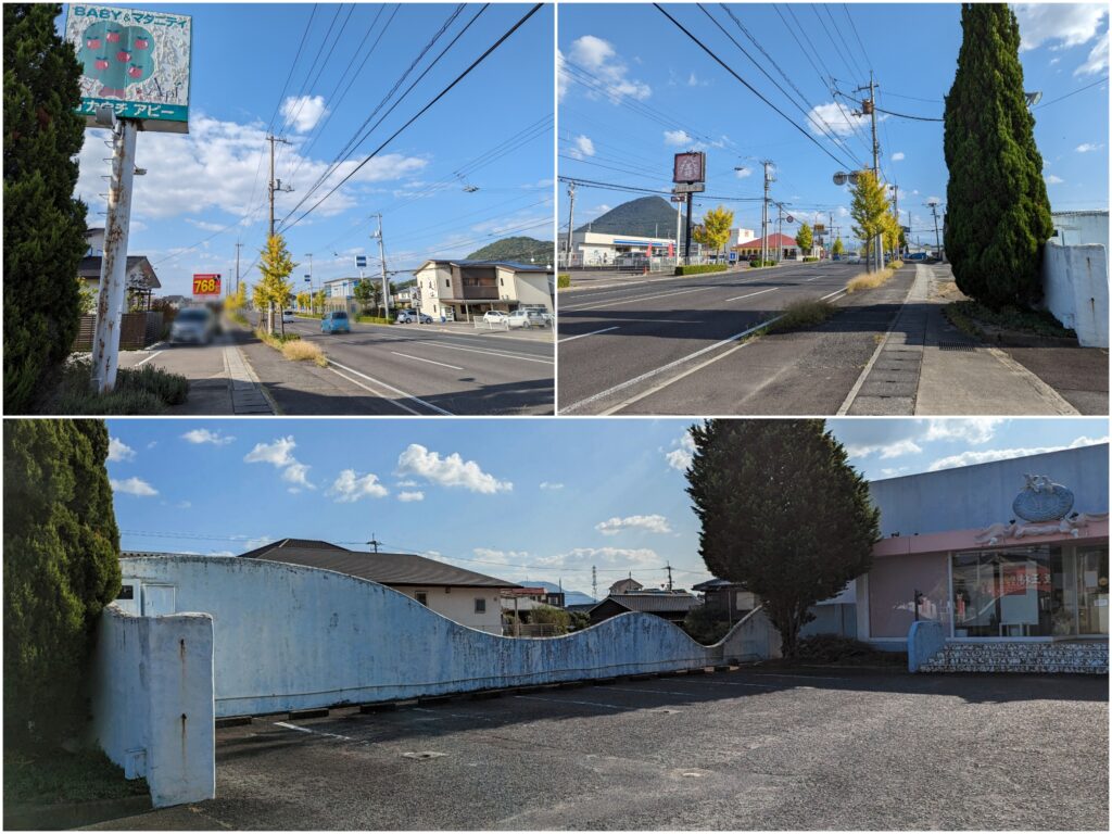
[[[57,3],[3,7],[3,394],[33,408],[43,371],[63,361],[80,321],[86,207],[73,199],[85,141],[73,47]]]

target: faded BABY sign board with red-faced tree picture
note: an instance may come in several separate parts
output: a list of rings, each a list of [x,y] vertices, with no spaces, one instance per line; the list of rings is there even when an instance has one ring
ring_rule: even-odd
[[[66,40],[81,63],[86,127],[103,127],[95,113],[111,105],[143,130],[188,133],[192,30],[188,14],[71,3]]]

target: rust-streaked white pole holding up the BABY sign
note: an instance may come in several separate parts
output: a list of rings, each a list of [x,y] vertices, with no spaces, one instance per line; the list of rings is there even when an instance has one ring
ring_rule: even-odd
[[[105,254],[100,259],[97,325],[92,338],[92,389],[108,394],[116,387],[120,361],[120,321],[128,282],[128,234],[131,229],[131,183],[136,172],[139,122],[117,119],[111,110],[97,113],[98,125],[112,127],[112,175],[108,186]]]

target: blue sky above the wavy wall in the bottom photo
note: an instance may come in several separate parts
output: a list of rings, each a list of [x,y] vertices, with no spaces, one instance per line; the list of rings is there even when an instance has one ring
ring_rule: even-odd
[[[125,549],[238,554],[287,536],[590,593],[708,578],[683,419],[110,419]],[[1108,440],[1105,419],[832,419],[868,478]],[[1017,485],[1019,487],[1022,485]]]

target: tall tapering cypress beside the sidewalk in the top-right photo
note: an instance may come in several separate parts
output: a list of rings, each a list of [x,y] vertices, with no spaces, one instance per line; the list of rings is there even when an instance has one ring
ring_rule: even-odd
[[[946,256],[959,289],[994,308],[1042,298],[1053,232],[1023,96],[1020,27],[1004,4],[962,4],[962,48],[946,96]]]

